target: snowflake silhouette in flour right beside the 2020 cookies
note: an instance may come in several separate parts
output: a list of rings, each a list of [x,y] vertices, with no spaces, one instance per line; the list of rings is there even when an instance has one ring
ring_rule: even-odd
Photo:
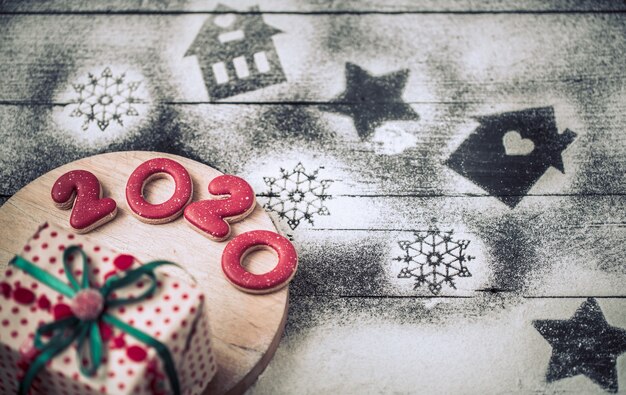
[[[324,201],[331,199],[327,189],[333,180],[318,180],[319,167],[307,173],[302,163],[293,170],[280,169],[280,177],[263,177],[269,187],[259,196],[267,198],[263,205],[267,210],[274,211],[281,219],[287,219],[287,225],[293,230],[302,220],[313,225],[314,215],[330,215]]]

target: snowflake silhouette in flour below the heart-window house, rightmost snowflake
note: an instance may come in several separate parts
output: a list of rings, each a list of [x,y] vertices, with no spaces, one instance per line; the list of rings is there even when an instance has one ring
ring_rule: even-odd
[[[400,270],[398,278],[415,277],[413,289],[427,285],[434,295],[441,292],[443,284],[456,289],[455,277],[472,276],[465,263],[474,257],[465,255],[470,242],[454,240],[452,235],[453,231],[442,232],[431,228],[415,232],[414,240],[399,241],[404,255],[394,260],[404,262],[407,266]]]

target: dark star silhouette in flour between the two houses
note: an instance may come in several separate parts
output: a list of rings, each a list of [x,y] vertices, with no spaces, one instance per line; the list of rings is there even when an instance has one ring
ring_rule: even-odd
[[[419,115],[402,100],[408,77],[407,69],[377,77],[348,62],[346,90],[322,110],[352,117],[362,140],[371,136],[385,121],[418,120]]]

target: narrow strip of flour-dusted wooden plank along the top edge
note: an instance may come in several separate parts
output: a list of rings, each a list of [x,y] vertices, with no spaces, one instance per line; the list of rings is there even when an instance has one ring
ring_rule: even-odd
[[[193,0],[188,2],[157,2],[143,0],[94,1],[17,1],[4,0],[0,5],[2,12],[212,12],[218,1]],[[259,5],[264,12],[563,12],[563,11],[624,11],[626,6],[620,2],[596,0],[496,0],[496,1],[436,1],[436,0],[349,0],[349,1],[289,1],[289,0],[237,0],[228,5],[237,9]]]

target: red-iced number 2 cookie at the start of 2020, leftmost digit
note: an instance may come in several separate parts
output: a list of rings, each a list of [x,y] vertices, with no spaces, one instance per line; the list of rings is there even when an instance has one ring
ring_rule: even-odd
[[[111,198],[102,199],[100,181],[86,170],[72,170],[54,183],[52,200],[62,210],[72,209],[70,226],[78,233],[90,230],[112,220],[117,204]]]

